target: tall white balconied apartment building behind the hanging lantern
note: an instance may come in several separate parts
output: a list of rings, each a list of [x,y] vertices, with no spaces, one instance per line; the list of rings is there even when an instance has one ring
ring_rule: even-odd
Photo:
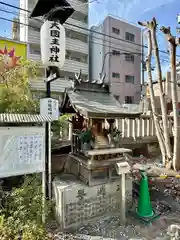
[[[50,0],[49,0],[50,1]],[[20,0],[20,8],[31,11],[36,0]],[[52,82],[52,92],[63,92],[71,84],[75,73],[82,71],[84,79],[88,79],[88,1],[68,0],[75,9],[71,18],[64,24],[66,29],[66,61],[60,71],[60,79]],[[27,58],[41,64],[40,56],[40,18],[30,19],[29,13],[20,10],[20,41],[28,43]],[[28,25],[28,26],[27,26]],[[30,81],[32,89],[45,90],[45,69],[42,66],[40,76],[36,81]]]

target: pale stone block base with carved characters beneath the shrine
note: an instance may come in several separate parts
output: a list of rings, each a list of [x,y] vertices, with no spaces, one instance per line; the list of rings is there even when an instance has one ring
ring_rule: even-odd
[[[55,214],[62,229],[78,227],[113,212],[121,212],[120,180],[89,187],[72,175],[53,181]],[[132,202],[132,180],[126,178],[127,209]]]

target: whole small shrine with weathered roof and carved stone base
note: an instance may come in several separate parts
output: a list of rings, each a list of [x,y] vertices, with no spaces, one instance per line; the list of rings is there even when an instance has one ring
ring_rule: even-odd
[[[121,107],[108,85],[80,80],[65,91],[61,112],[73,115],[71,153],[65,164],[68,174],[53,182],[61,227],[67,229],[106,214],[125,212],[132,198],[132,180],[128,174],[122,179],[116,167],[118,163],[128,166],[131,150],[120,147],[117,122],[118,118],[140,113],[129,113]]]

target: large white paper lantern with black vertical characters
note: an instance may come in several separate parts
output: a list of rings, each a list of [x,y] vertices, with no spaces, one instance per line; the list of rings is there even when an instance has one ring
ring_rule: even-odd
[[[55,21],[41,27],[41,60],[46,67],[62,68],[65,62],[65,29]]]

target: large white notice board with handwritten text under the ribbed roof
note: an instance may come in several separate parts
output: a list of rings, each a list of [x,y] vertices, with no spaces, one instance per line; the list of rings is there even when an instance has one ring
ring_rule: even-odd
[[[0,178],[43,172],[44,127],[0,127]]]

